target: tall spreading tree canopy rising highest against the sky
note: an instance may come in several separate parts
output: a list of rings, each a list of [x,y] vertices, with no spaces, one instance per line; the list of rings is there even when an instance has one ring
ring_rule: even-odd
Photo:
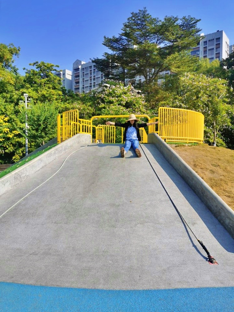
[[[161,73],[188,71],[197,62],[188,50],[200,40],[194,17],[152,17],[144,8],[132,12],[118,37],[104,37],[103,45],[112,53],[92,61],[107,78],[124,81],[142,75],[150,85]]]

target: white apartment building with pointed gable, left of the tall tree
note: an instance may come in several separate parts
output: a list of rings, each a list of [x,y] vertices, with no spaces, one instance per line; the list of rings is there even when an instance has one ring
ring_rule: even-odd
[[[104,79],[104,74],[96,69],[92,62],[76,60],[73,63],[74,93],[89,92],[95,89]]]

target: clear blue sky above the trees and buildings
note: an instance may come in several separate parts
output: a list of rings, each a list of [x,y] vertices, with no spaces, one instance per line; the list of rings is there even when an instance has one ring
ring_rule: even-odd
[[[72,70],[107,51],[103,37],[121,32],[131,12],[146,7],[153,17],[201,19],[204,34],[223,30],[234,44],[234,1],[220,0],[0,0],[0,42],[21,48],[15,65],[44,61]]]

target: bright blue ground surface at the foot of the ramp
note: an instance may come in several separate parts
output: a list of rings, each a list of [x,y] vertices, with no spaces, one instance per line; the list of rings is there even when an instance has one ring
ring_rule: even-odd
[[[232,312],[234,287],[93,290],[0,282],[4,312]]]

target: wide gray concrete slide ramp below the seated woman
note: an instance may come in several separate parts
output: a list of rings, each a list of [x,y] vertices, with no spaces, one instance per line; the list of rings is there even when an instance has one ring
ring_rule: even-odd
[[[67,151],[0,197],[0,280],[97,289],[234,286],[232,237],[152,144]],[[146,157],[147,156],[147,157]],[[149,160],[148,160],[149,159]],[[162,184],[219,265],[181,221]]]

